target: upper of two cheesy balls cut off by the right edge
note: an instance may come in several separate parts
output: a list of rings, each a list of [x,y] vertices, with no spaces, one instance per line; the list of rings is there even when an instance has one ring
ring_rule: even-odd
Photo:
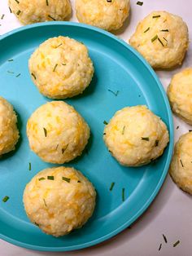
[[[185,68],[172,77],[168,99],[172,111],[192,125],[192,68]]]

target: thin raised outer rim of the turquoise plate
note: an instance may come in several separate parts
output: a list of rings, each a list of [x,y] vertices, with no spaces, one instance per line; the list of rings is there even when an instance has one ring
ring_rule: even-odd
[[[162,86],[159,77],[155,73],[154,69],[151,68],[151,65],[146,62],[146,60],[142,57],[142,55],[136,51],[132,46],[130,46],[127,42],[125,42],[123,39],[116,37],[114,34],[109,33],[103,29],[98,29],[94,26],[88,25],[88,24],[81,24],[77,22],[71,22],[71,21],[49,21],[49,22],[41,22],[41,23],[36,23],[36,24],[28,24],[25,26],[22,26],[18,29],[13,29],[7,33],[2,34],[0,41],[2,41],[5,38],[8,38],[12,36],[15,33],[20,33],[21,31],[28,30],[28,29],[33,29],[37,27],[44,27],[44,26],[57,26],[57,25],[63,25],[63,26],[72,26],[72,27],[81,27],[83,29],[89,29],[93,30],[97,33],[102,33],[103,35],[115,40],[116,42],[119,42],[121,45],[125,46],[126,48],[129,49],[129,51],[132,51],[133,54],[139,59],[142,64],[149,70],[151,75],[154,77],[156,84],[159,86],[159,90],[163,96],[165,106],[168,111],[168,125],[169,125],[169,143],[168,143],[168,157],[164,166],[164,171],[161,175],[161,178],[159,179],[159,183],[157,184],[154,192],[151,194],[151,196],[148,198],[146,203],[142,205],[142,208],[137,211],[137,214],[134,214],[131,219],[126,221],[123,225],[120,227],[116,228],[116,230],[113,230],[112,232],[108,233],[105,236],[101,236],[98,239],[95,239],[93,241],[85,242],[84,244],[81,245],[69,245],[69,246],[62,246],[62,247],[46,247],[46,246],[41,246],[41,245],[30,245],[28,243],[24,243],[21,241],[17,241],[10,236],[5,236],[0,233],[0,239],[7,241],[11,243],[12,245],[18,245],[20,247],[26,248],[26,249],[33,249],[33,250],[38,250],[38,251],[47,251],[47,252],[64,252],[64,251],[72,251],[72,250],[77,250],[77,249],[85,249],[87,247],[93,246],[93,245],[98,245],[99,243],[103,241],[107,241],[113,236],[116,236],[120,232],[122,232],[126,227],[129,227],[133,222],[136,221],[137,218],[139,218],[146,210],[147,208],[151,205],[152,201],[154,201],[155,196],[160,191],[160,188],[162,187],[164,180],[168,174],[168,168],[172,160],[172,152],[173,152],[173,146],[174,146],[174,126],[173,126],[173,119],[172,119],[172,111],[170,108],[170,104],[168,102],[168,97],[166,95],[166,92],[164,90],[164,87]]]

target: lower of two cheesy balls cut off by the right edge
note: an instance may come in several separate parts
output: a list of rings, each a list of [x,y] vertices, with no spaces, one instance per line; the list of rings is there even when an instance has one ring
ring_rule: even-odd
[[[182,135],[175,145],[169,174],[183,191],[192,195],[192,133]]]

